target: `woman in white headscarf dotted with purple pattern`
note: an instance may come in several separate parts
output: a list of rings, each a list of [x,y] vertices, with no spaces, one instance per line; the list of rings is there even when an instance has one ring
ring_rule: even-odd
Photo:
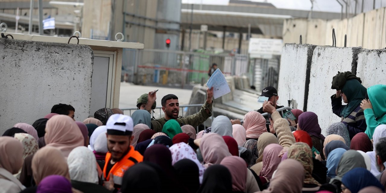
[[[190,159],[191,161],[196,163],[196,165],[198,166],[199,180],[201,184],[205,172],[205,167],[198,161],[197,154],[194,152],[194,150],[188,144],[183,142],[174,144],[169,148],[169,150],[171,152],[172,165],[174,165],[181,159]]]

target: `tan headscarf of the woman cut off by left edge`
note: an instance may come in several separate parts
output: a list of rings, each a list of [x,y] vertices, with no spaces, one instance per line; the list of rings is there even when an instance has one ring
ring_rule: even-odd
[[[14,137],[0,137],[0,168],[16,174],[23,165],[23,145]]]

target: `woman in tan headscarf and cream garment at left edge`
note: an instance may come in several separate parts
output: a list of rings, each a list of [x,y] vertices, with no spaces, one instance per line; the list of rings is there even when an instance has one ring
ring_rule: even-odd
[[[0,193],[17,193],[24,190],[25,187],[13,176],[23,164],[22,143],[13,137],[0,137],[0,155]]]

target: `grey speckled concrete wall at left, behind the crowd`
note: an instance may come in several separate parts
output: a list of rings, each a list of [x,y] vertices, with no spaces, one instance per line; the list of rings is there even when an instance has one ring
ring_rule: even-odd
[[[89,46],[0,39],[0,134],[70,104],[75,119],[90,113],[93,51]]]

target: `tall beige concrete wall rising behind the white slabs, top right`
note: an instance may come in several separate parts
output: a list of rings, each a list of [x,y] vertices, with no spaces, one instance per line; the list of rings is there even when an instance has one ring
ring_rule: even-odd
[[[287,19],[283,24],[283,42],[332,46],[332,29],[335,29],[337,46],[382,49],[386,47],[386,7],[358,14],[349,19]]]

